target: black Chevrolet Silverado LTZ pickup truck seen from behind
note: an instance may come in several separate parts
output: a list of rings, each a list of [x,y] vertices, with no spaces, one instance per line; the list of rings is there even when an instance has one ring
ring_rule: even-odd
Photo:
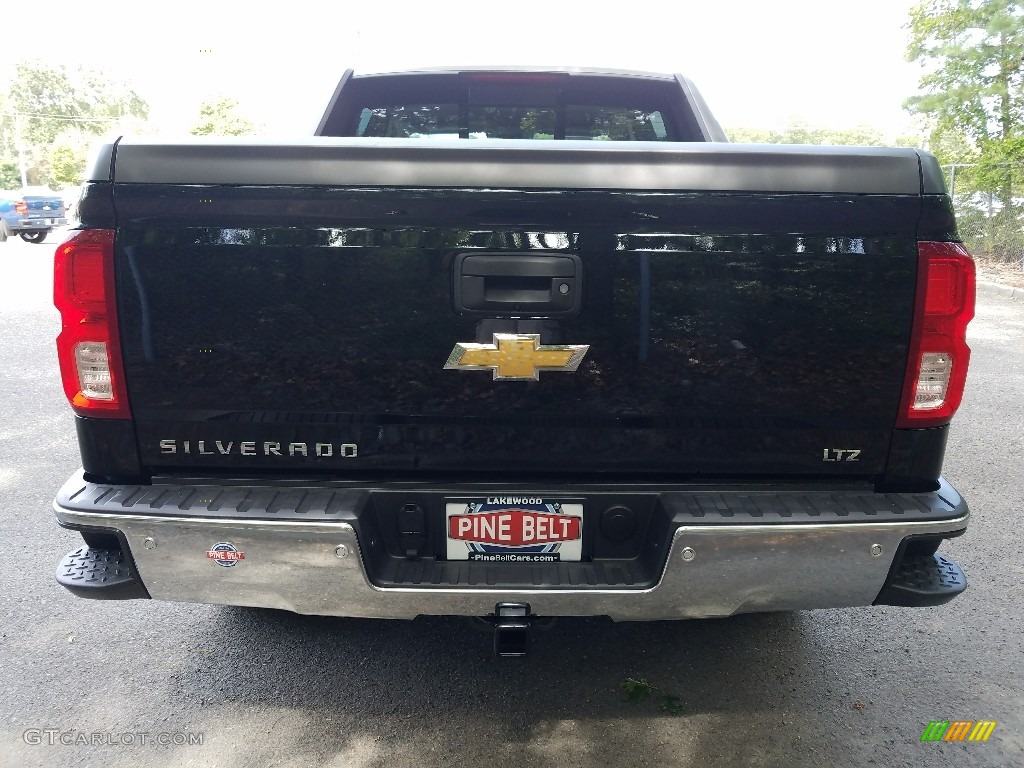
[[[301,613],[930,606],[974,267],[934,157],[727,142],[679,76],[346,73],[121,139],[56,252],[58,582]]]

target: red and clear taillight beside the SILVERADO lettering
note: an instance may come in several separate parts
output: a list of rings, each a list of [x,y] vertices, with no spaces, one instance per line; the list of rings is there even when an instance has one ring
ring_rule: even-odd
[[[113,229],[83,229],[57,246],[53,304],[60,310],[60,378],[75,413],[131,418],[118,343]]]

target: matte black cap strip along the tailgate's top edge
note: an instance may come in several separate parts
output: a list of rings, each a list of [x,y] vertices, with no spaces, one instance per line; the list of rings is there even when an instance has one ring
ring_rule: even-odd
[[[682,142],[123,139],[116,183],[920,195],[915,150]]]

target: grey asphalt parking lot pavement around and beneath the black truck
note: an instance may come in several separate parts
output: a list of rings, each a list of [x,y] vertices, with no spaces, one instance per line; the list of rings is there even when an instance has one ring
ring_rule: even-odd
[[[499,660],[463,621],[385,623],[154,601],[53,581],[78,467],[44,246],[0,244],[0,766],[1024,765],[1024,301],[983,293],[948,478],[969,591],[867,607],[562,621]],[[642,700],[622,685],[644,680]],[[923,743],[932,720],[994,720]],[[165,741],[167,743],[157,743]],[[193,743],[189,743],[191,741]],[[202,741],[202,743],[196,743]]]

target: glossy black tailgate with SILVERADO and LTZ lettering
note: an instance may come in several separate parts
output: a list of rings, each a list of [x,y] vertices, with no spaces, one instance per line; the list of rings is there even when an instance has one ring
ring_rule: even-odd
[[[290,162],[119,150],[122,352],[153,471],[884,470],[914,303],[912,151],[588,148],[567,173],[571,147],[376,146],[389,162],[353,165],[374,146],[343,140]],[[447,180],[467,169],[477,185]],[[575,369],[527,354],[509,377],[527,380],[502,378],[501,337],[530,335]],[[458,345],[494,347],[477,360],[495,366],[446,367]]]

